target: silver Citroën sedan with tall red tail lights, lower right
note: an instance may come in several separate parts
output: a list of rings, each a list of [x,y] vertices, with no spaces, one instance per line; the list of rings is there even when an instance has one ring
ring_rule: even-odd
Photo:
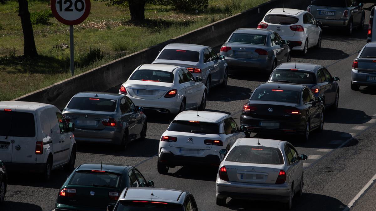
[[[303,193],[303,162],[289,142],[270,139],[238,139],[220,164],[216,189],[217,205],[227,197],[272,200],[291,209],[295,194]]]

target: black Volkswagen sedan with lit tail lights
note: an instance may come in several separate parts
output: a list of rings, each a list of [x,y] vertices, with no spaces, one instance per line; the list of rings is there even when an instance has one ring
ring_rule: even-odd
[[[264,83],[243,106],[240,124],[248,132],[268,130],[308,140],[312,130],[323,130],[323,98],[304,85]]]

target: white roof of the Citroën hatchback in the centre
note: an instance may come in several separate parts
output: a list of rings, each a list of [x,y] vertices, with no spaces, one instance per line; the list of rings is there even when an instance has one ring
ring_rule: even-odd
[[[199,116],[197,116],[197,111],[184,111],[176,115],[174,120],[217,123],[229,116],[226,113],[206,111],[199,111],[198,114]]]

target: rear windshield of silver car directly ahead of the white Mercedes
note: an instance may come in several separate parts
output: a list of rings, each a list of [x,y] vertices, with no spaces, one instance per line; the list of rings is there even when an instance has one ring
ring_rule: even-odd
[[[188,51],[179,49],[165,49],[158,56],[158,59],[179,60],[187,62],[199,62],[199,58],[199,51]]]

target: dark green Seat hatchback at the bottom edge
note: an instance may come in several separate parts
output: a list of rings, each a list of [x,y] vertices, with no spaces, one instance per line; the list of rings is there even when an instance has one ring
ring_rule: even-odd
[[[60,188],[56,211],[104,211],[126,187],[153,187],[133,166],[86,163],[77,167]]]

